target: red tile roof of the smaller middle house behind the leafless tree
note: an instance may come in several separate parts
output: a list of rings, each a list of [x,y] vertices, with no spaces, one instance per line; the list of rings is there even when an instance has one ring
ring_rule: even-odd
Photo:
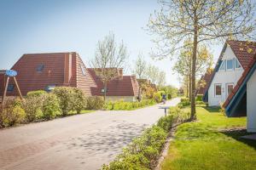
[[[93,68],[87,69],[96,82],[97,88],[91,88],[92,95],[103,95],[101,89],[104,88],[102,81],[96,76]],[[107,96],[137,96],[138,82],[134,76],[122,76],[119,79],[108,82]]]

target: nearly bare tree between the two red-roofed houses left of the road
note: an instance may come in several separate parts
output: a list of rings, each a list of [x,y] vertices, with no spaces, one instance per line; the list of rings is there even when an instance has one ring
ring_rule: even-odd
[[[108,82],[119,78],[119,69],[125,67],[128,56],[124,42],[118,46],[113,33],[109,33],[97,43],[95,58],[91,60],[90,65],[104,85],[104,100],[108,91]]]

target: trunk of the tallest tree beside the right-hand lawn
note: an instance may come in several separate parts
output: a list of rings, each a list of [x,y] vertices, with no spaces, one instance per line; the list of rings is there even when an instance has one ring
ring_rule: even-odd
[[[196,52],[197,52],[197,39],[198,39],[198,23],[195,11],[195,21],[194,21],[194,42],[193,42],[193,56],[192,56],[192,99],[191,99],[191,120],[196,119],[195,112],[195,64],[196,64]]]

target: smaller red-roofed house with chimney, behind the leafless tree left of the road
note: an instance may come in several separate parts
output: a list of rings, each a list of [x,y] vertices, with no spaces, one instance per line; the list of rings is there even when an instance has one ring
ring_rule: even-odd
[[[103,96],[104,85],[100,77],[97,77],[94,68],[88,68],[91,77],[96,82],[96,87],[91,88],[92,95]],[[139,84],[135,76],[124,76],[123,70],[118,69],[119,77],[108,82],[107,100],[137,101]]]

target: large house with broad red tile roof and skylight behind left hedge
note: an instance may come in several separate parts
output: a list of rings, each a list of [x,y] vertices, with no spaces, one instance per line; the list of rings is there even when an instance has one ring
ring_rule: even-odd
[[[23,54],[11,69],[18,72],[16,79],[22,95],[33,90],[50,91],[57,86],[80,88],[84,94],[92,95],[91,88],[96,87],[96,82],[75,52]],[[0,96],[6,78],[3,74],[0,76]],[[7,89],[7,95],[18,95],[15,82],[10,81]]]

